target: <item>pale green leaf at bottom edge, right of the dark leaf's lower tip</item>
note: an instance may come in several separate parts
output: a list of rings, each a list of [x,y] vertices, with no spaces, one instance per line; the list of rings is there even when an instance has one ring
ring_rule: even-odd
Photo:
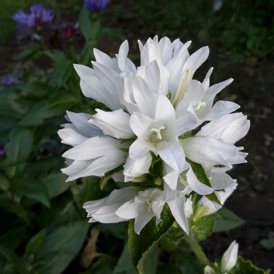
[[[154,242],[139,260],[137,269],[139,274],[156,274],[158,265],[158,241]]]

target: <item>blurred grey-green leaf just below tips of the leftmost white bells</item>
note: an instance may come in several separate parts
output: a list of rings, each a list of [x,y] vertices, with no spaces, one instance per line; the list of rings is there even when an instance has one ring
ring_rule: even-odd
[[[53,172],[44,177],[42,181],[47,186],[48,194],[50,198],[54,198],[63,192],[65,192],[72,182],[66,183],[67,175],[62,174],[60,171]]]

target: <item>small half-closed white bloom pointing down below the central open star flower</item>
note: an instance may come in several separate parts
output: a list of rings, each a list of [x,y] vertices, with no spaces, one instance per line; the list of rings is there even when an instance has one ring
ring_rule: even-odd
[[[151,161],[152,156],[150,152],[136,160],[132,160],[130,157],[128,157],[123,171],[125,175],[125,182],[131,181],[134,177],[149,173]]]

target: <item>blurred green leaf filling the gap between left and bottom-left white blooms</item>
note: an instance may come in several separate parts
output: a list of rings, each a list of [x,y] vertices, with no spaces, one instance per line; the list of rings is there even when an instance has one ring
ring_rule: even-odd
[[[73,184],[71,186],[71,192],[76,205],[86,216],[86,212],[83,209],[83,203],[90,200],[97,200],[100,195],[100,178],[95,176],[89,176],[81,178],[81,184]]]

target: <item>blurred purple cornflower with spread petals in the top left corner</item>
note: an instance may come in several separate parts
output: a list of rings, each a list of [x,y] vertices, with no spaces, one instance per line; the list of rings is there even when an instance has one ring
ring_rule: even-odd
[[[43,8],[43,4],[35,4],[29,7],[30,13],[26,14],[22,9],[19,9],[12,19],[19,25],[40,26],[42,23],[51,22],[55,12],[53,9]]]

